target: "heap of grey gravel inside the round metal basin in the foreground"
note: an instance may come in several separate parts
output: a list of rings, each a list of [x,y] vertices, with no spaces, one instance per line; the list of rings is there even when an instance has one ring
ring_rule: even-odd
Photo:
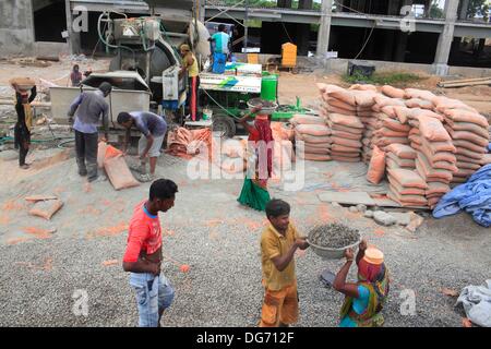
[[[360,239],[358,230],[340,224],[314,227],[309,233],[309,241],[321,248],[342,249]]]

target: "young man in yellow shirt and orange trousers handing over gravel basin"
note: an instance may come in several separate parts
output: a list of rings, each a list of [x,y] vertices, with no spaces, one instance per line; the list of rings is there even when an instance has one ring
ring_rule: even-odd
[[[270,226],[261,236],[265,288],[260,327],[286,327],[298,320],[297,276],[294,255],[309,243],[290,224],[290,205],[272,200],[266,205]]]

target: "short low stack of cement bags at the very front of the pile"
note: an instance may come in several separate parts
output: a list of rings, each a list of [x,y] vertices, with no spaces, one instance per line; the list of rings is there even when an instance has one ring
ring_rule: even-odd
[[[428,184],[415,171],[402,168],[388,168],[388,198],[400,206],[426,206]]]

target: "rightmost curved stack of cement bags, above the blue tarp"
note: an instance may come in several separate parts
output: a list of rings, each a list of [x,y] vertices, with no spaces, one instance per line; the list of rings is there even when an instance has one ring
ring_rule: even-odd
[[[457,171],[453,183],[465,182],[482,165],[489,144],[488,120],[476,109],[446,97],[435,99],[435,110],[444,116],[445,129],[456,147]]]

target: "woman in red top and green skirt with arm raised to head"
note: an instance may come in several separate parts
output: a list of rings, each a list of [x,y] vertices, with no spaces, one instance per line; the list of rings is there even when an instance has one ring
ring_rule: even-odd
[[[242,191],[237,200],[242,205],[258,210],[265,210],[270,202],[267,180],[273,171],[273,132],[271,130],[271,116],[258,113],[253,125],[248,123],[252,115],[261,110],[258,105],[251,112],[239,120],[249,132],[248,142],[248,172]]]

